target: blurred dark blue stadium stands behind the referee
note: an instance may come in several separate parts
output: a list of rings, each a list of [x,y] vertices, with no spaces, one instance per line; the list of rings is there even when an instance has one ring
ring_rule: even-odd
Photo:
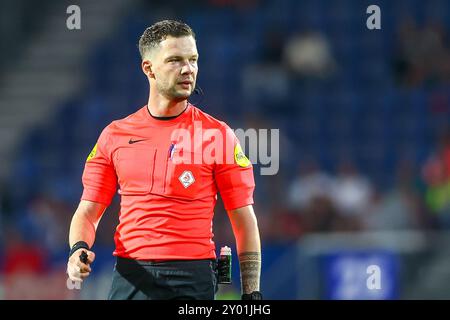
[[[119,199],[82,290],[66,287],[69,223],[99,133],[146,104],[136,44],[167,18],[197,34],[194,104],[280,129],[279,173],[255,165],[266,298],[450,298],[450,2],[2,0],[1,299],[106,298]],[[234,247],[220,203],[214,232]],[[233,262],[221,299],[239,292]]]

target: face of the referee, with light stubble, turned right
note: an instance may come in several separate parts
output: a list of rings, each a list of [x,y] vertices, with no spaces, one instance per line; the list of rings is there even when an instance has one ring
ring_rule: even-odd
[[[153,49],[150,61],[158,92],[170,100],[182,101],[192,94],[197,79],[198,52],[192,36],[167,37]]]

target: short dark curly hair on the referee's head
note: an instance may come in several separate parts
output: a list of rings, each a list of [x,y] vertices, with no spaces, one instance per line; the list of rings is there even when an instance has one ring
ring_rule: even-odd
[[[149,49],[155,48],[169,36],[174,38],[192,36],[195,39],[194,31],[186,23],[175,20],[156,22],[145,29],[139,39],[139,53],[141,54],[141,58],[144,59],[144,55]]]

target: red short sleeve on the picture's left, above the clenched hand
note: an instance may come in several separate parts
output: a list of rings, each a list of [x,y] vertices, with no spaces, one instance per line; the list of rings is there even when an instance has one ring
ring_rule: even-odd
[[[108,151],[110,136],[108,127],[103,130],[86,159],[83,172],[81,200],[99,202],[108,206],[117,190],[117,175]]]

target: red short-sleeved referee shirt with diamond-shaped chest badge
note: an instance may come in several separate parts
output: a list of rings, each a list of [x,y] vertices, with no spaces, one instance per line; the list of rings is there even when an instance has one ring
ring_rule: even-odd
[[[212,218],[253,204],[251,163],[233,131],[188,104],[176,118],[147,107],[113,121],[86,161],[82,200],[109,205],[119,185],[115,256],[137,260],[215,258]]]

